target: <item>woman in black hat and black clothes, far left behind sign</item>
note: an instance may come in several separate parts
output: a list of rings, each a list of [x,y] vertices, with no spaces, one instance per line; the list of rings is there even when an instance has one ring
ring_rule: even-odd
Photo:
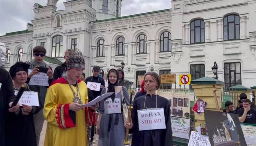
[[[37,92],[32,85],[27,85],[27,74],[30,65],[17,62],[10,67],[10,74],[17,92],[22,85],[26,86],[25,91]],[[20,109],[7,116],[6,146],[37,146],[36,133],[34,129],[33,114],[41,110],[38,106],[28,106],[20,103]]]

